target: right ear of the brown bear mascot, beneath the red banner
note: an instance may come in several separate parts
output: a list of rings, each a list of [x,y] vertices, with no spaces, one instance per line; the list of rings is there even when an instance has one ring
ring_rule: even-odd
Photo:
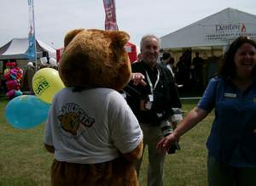
[[[129,41],[130,36],[125,31],[109,31],[111,37],[111,45],[113,48],[124,48],[125,44]]]

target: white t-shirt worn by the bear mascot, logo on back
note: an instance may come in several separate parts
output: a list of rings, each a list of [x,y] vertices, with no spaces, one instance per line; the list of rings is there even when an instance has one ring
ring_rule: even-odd
[[[49,110],[44,143],[55,159],[81,164],[111,161],[137,147],[143,132],[120,93],[93,88],[73,93],[63,88]]]

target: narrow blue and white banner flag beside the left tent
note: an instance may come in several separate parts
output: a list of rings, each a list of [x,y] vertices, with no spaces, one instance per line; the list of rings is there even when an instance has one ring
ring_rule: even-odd
[[[26,54],[30,59],[37,60],[36,37],[35,37],[35,20],[33,0],[27,0],[29,8],[29,32],[28,32],[28,50]]]

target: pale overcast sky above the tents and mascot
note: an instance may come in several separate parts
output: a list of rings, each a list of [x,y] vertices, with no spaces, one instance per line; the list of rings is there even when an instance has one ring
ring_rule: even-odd
[[[138,46],[145,34],[162,37],[224,8],[256,14],[256,1],[116,0],[116,17],[119,30],[127,31]],[[53,48],[61,48],[65,34],[72,29],[104,30],[102,0],[34,0],[34,11],[36,37]],[[2,0],[0,15],[1,47],[13,37],[27,37],[27,0]]]

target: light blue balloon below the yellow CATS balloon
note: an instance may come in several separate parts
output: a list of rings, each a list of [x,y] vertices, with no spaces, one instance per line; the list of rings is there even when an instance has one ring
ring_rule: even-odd
[[[9,124],[20,129],[36,127],[46,121],[49,104],[33,95],[21,95],[9,101],[5,117]]]

